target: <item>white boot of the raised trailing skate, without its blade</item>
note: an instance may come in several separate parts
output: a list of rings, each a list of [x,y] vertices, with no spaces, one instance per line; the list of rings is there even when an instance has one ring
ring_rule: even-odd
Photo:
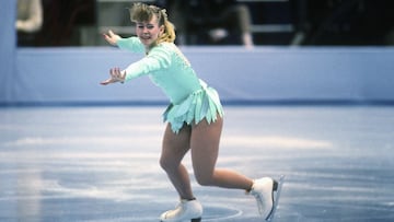
[[[274,209],[274,191],[278,189],[278,182],[269,177],[254,180],[250,191],[256,198],[258,212],[268,220]]]

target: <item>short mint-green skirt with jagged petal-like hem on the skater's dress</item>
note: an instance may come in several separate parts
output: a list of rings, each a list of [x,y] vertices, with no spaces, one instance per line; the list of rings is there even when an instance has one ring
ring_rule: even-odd
[[[178,133],[183,125],[198,124],[204,118],[208,124],[215,122],[218,115],[223,116],[219,94],[213,87],[201,82],[201,89],[192,93],[179,104],[170,104],[163,114],[164,121],[171,124],[173,132]]]

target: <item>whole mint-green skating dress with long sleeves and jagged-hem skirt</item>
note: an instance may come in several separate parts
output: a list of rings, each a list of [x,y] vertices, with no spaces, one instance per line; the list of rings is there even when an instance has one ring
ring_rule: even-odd
[[[117,46],[134,52],[144,54],[138,37],[121,38]],[[204,118],[209,124],[223,116],[217,91],[198,79],[189,61],[173,43],[161,43],[149,54],[126,69],[125,81],[149,75],[161,87],[171,104],[163,114],[164,121],[177,133],[183,125],[198,124]]]

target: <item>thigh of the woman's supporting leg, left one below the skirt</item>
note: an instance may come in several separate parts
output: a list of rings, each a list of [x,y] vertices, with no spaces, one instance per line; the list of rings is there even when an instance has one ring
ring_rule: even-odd
[[[164,131],[161,161],[178,164],[189,149],[190,127],[184,125],[179,132],[175,133],[172,131],[171,125],[167,124]]]

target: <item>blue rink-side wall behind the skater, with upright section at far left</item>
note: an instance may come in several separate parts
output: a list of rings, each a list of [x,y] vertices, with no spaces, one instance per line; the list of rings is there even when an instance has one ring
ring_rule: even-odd
[[[0,8],[0,104],[165,103],[148,78],[101,86],[139,59],[113,47],[15,48],[13,1]],[[3,31],[3,30],[2,30]],[[224,102],[394,102],[392,47],[186,47]]]

